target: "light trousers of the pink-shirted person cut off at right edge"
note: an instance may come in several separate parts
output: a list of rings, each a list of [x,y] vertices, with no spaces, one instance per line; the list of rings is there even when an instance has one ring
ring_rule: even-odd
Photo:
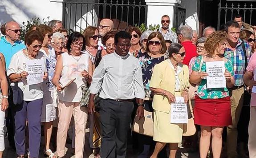
[[[251,107],[250,112],[250,122],[249,122],[249,140],[248,140],[248,149],[249,157],[256,158],[256,106]]]

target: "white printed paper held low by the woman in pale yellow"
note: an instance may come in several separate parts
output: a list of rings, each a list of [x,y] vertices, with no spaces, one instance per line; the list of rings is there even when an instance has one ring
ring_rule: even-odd
[[[187,104],[183,97],[176,97],[175,103],[171,104],[171,123],[187,122]]]

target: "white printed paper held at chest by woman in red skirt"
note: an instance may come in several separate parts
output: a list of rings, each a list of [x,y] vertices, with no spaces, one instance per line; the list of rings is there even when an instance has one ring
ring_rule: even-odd
[[[207,76],[207,89],[226,87],[224,61],[206,62],[206,73],[209,75]]]

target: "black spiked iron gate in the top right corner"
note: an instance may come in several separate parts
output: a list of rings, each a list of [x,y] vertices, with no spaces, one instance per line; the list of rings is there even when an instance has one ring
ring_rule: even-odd
[[[243,21],[256,25],[256,2],[248,0],[247,2],[220,0],[218,10],[218,30],[223,29],[224,24],[229,20],[234,20],[235,15],[241,15]]]

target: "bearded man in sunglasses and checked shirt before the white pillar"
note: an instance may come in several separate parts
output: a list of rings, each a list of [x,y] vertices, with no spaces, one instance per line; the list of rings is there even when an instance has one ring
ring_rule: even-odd
[[[167,15],[162,16],[162,28],[159,30],[163,34],[164,40],[170,40],[172,43],[178,43],[177,34],[169,29],[170,17]]]

